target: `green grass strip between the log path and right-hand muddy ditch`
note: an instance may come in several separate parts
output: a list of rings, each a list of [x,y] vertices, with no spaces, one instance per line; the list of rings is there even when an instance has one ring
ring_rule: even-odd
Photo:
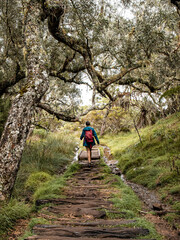
[[[114,211],[106,210],[107,217],[109,219],[124,218],[133,220],[132,223],[126,223],[121,226],[148,229],[149,234],[146,238],[162,240],[162,237],[156,232],[154,225],[140,215],[142,204],[133,190],[119,176],[110,174],[110,171],[107,170],[109,168],[107,165],[103,165],[101,162],[101,166],[106,174],[105,184],[108,184],[112,191],[110,200],[113,202]]]

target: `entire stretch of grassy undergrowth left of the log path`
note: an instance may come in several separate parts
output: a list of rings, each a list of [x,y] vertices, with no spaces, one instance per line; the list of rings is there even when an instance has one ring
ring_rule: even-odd
[[[67,178],[79,167],[77,163],[70,165],[75,147],[76,139],[72,139],[68,132],[34,131],[22,156],[11,201],[1,204],[1,239],[8,239],[7,232],[13,229],[18,219],[27,218],[37,210],[34,205],[37,199],[62,195],[61,189]],[[65,171],[67,165],[70,166]],[[59,176],[64,171],[64,175]],[[29,230],[26,234],[30,235]]]

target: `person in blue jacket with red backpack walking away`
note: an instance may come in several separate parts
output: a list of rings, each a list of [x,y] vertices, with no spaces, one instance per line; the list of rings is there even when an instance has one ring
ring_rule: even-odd
[[[90,127],[90,122],[86,122],[86,127],[83,129],[80,139],[83,140],[83,146],[86,147],[87,155],[88,155],[88,163],[91,164],[91,149],[95,144],[94,137],[96,139],[97,144],[99,144],[99,139],[94,128]]]

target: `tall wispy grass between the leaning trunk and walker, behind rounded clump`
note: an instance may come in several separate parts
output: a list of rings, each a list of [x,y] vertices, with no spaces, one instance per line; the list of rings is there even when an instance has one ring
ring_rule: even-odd
[[[62,172],[65,166],[72,160],[75,146],[76,142],[68,134],[47,134],[44,130],[36,130],[34,135],[28,140],[23,152],[13,192],[14,196],[18,198],[25,197],[28,189],[35,190],[38,182],[41,182],[42,178],[44,178],[44,175],[41,174],[42,172],[47,174],[46,180],[48,179],[48,174],[54,175]],[[31,174],[32,176],[30,177]],[[25,183],[29,177],[30,180],[28,181],[32,181],[28,183],[30,188],[25,188]],[[38,178],[38,182],[35,183]]]

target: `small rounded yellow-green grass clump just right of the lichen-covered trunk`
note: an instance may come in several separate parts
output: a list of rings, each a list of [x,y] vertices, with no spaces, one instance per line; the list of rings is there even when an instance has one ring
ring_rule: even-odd
[[[35,191],[42,183],[50,181],[52,177],[45,172],[32,173],[26,183],[25,187],[31,191]]]

